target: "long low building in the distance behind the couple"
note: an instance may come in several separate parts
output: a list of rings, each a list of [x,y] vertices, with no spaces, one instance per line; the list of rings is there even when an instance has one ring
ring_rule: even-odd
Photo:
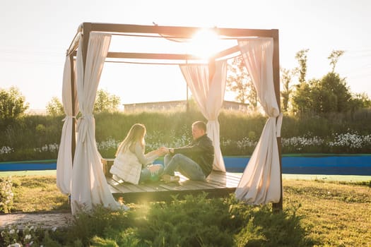
[[[123,104],[123,106],[124,112],[161,111],[169,109],[182,109],[185,111],[187,109],[187,100]],[[245,112],[248,109],[248,104],[225,100],[222,108]]]

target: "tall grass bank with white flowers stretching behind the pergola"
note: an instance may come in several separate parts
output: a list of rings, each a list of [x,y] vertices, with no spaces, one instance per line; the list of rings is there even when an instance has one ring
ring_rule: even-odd
[[[11,124],[0,122],[0,162],[57,159],[64,116],[24,116]],[[207,121],[201,112],[114,112],[95,114],[95,139],[102,157],[114,157],[117,145],[134,123],[147,128],[146,149],[177,147],[192,140],[194,121]],[[254,113],[223,110],[220,149],[225,156],[251,155],[267,120]],[[326,116],[283,117],[283,154],[362,154],[371,150],[371,110]]]

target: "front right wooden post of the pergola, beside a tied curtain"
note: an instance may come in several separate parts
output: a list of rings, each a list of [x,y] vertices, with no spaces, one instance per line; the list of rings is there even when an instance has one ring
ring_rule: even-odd
[[[278,109],[281,112],[281,93],[280,93],[280,54],[279,54],[279,39],[278,30],[273,31],[273,83],[274,91],[276,92],[276,100]],[[278,203],[273,203],[273,212],[281,212],[283,210],[283,187],[282,187],[282,153],[281,153],[281,137],[277,138],[278,155],[280,159],[280,180],[281,180],[281,196]]]

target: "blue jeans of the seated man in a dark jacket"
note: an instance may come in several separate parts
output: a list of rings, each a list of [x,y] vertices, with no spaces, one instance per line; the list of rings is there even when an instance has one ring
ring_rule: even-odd
[[[165,155],[164,164],[164,174],[174,176],[174,171],[179,171],[183,176],[191,180],[205,179],[204,171],[202,171],[199,164],[185,155]]]

